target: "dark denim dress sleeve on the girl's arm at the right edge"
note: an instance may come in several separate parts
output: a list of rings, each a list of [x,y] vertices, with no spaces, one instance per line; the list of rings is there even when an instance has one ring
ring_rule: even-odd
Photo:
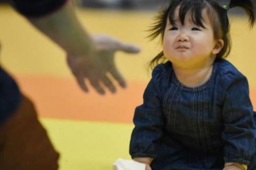
[[[232,78],[223,105],[224,161],[249,164],[254,153],[253,108],[245,76]]]

